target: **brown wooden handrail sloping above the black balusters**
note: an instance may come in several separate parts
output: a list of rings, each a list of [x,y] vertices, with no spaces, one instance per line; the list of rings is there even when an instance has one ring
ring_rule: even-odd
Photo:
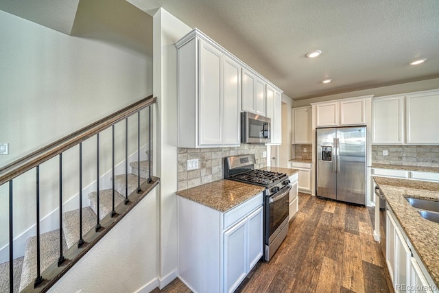
[[[93,137],[93,135],[111,127],[117,122],[126,119],[133,113],[136,113],[147,106],[150,106],[156,102],[157,98],[152,95],[145,97],[130,106],[127,106],[115,113],[112,113],[93,124],[90,124],[78,131],[75,131],[62,139],[58,139],[54,143],[50,143],[31,154],[24,156],[23,158],[14,161],[5,167],[0,169],[0,186],[8,181],[16,178],[17,176],[29,171],[45,161],[57,156],[58,154],[69,150],[73,146],[85,141],[86,139]]]

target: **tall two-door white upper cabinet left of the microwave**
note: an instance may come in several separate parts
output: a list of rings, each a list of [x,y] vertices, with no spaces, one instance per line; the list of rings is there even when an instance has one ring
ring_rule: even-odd
[[[178,147],[239,146],[241,65],[194,30],[178,49]]]

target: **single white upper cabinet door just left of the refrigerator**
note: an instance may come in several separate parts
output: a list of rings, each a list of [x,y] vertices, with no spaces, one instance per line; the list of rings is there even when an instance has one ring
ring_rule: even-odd
[[[294,143],[312,143],[312,108],[293,109],[294,117]]]

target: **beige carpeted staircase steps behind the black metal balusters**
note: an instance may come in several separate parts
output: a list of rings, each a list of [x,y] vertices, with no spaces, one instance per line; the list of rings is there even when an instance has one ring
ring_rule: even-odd
[[[152,156],[150,156],[152,159]],[[152,160],[151,160],[152,161]],[[151,162],[152,163],[152,162]],[[141,185],[149,177],[148,161],[131,162],[132,174],[128,174],[128,199],[136,193],[138,176]],[[126,195],[126,175],[115,176],[115,207],[124,204]],[[88,194],[90,207],[82,208],[82,235],[94,229],[97,223],[97,192]],[[112,189],[99,191],[99,219],[102,220],[112,211]],[[80,238],[80,210],[67,211],[62,214],[62,246],[63,251],[72,246],[78,246]],[[5,230],[6,231],[6,230]],[[52,263],[58,262],[60,252],[60,230],[50,231],[40,235],[40,270],[44,272]],[[0,293],[10,292],[9,261],[0,264]],[[26,242],[24,257],[14,259],[14,290],[21,292],[36,279],[36,236],[29,237]],[[43,274],[44,277],[44,274]],[[32,286],[33,287],[33,286]]]

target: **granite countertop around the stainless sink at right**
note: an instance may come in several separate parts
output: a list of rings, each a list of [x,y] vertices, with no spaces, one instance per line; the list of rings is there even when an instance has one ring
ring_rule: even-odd
[[[439,285],[439,223],[422,218],[404,195],[439,201],[439,183],[374,176],[431,279]],[[433,285],[433,284],[431,284]]]

